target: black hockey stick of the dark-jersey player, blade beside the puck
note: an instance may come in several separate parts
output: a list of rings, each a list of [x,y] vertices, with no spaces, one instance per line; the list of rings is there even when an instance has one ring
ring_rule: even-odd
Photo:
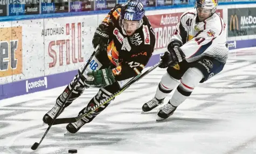
[[[99,47],[100,47],[100,45],[98,45],[98,46],[95,48],[94,52],[92,53],[91,57],[89,58],[88,62],[86,63],[84,69],[82,69],[81,74],[84,74],[84,72],[85,72],[87,66],[89,65],[90,61],[92,60],[94,54],[96,53],[96,51],[98,50]],[[77,85],[77,83],[78,83],[79,80],[80,80],[80,76],[78,76],[77,80],[73,83],[73,85]],[[57,114],[54,116],[52,122],[49,124],[49,127],[48,127],[47,130],[45,131],[45,133],[44,133],[43,137],[41,138],[40,142],[39,142],[39,143],[34,142],[34,144],[31,146],[31,149],[32,149],[32,150],[36,150],[36,149],[38,148],[38,146],[41,144],[41,142],[44,140],[44,137],[46,136],[46,134],[48,133],[48,131],[49,131],[50,128],[52,127],[54,121],[55,121],[56,118],[57,118],[57,115],[60,113],[61,109],[62,109],[62,108],[64,107],[64,105],[66,104],[67,99],[71,96],[71,93],[73,92],[74,88],[75,88],[75,86],[73,86],[72,89],[71,89],[71,91],[70,91],[70,93],[68,93],[66,99],[64,100],[63,105],[61,105],[61,107],[60,107],[60,109],[58,110]]]

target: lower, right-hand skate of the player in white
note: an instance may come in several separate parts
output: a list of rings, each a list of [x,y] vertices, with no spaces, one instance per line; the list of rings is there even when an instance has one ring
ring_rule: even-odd
[[[161,121],[164,119],[167,119],[169,116],[174,114],[174,111],[176,110],[177,106],[172,106],[169,102],[168,104],[165,104],[163,107],[160,108],[160,110],[157,113],[157,119],[156,121]]]

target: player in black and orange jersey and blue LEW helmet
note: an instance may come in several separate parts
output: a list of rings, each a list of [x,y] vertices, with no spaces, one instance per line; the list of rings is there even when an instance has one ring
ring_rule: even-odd
[[[128,1],[124,5],[117,4],[108,13],[99,27],[96,28],[92,40],[94,48],[100,45],[98,52],[92,59],[93,67],[88,66],[84,74],[81,74],[84,65],[79,68],[78,74],[57,98],[56,104],[44,115],[44,123],[51,123],[58,109],[64,104],[65,98],[71,92],[72,83],[79,76],[78,84],[75,85],[71,96],[67,99],[60,113],[78,98],[86,88],[99,87],[99,92],[78,113],[79,115],[83,114],[88,107],[98,104],[102,99],[117,92],[130,79],[141,73],[155,46],[153,28],[151,28],[144,13],[143,4],[137,1]],[[81,120],[67,124],[67,131],[77,133],[85,123],[91,122],[109,103],[110,101]]]

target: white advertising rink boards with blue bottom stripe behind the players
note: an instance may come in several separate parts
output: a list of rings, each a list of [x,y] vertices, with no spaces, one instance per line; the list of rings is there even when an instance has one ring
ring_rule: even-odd
[[[239,16],[237,21],[231,19],[229,9],[237,8],[255,10],[256,4],[219,6],[218,12],[228,31],[239,29],[242,19],[251,26],[248,28],[254,28],[254,12],[241,18]],[[154,55],[147,67],[160,60],[160,54],[165,51],[181,14],[189,9],[192,8],[146,11],[157,39]],[[0,100],[68,84],[93,52],[93,34],[105,16],[93,14],[1,22],[0,43],[4,52],[0,66]],[[238,49],[256,46],[255,39],[255,34],[247,34],[229,36],[227,40],[230,49]]]

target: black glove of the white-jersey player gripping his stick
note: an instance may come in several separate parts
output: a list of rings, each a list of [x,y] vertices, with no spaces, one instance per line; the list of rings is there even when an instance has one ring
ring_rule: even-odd
[[[168,52],[161,56],[162,63],[159,65],[160,68],[174,67],[177,63],[182,62],[185,57],[178,43],[170,43],[167,49]]]

